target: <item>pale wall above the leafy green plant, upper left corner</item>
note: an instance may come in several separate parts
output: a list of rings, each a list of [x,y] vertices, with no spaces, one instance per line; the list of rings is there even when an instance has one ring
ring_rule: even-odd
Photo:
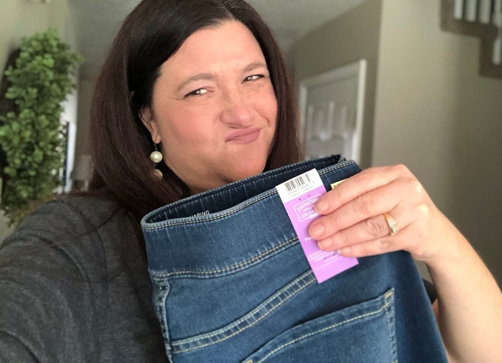
[[[55,28],[62,40],[74,46],[74,36],[68,13],[67,0],[51,0],[49,4],[26,0],[0,0],[0,82],[11,53],[19,47],[21,38],[47,28]],[[0,212],[0,241],[10,229]]]

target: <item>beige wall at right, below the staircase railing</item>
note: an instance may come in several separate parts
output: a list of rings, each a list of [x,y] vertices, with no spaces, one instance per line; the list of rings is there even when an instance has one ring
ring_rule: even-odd
[[[384,0],[373,165],[404,163],[502,283],[502,79],[437,0]]]

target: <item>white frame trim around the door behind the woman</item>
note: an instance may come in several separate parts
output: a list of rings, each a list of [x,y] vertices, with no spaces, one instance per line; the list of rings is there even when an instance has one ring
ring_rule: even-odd
[[[305,156],[305,123],[307,112],[307,94],[308,89],[313,86],[320,86],[329,82],[339,81],[348,77],[357,77],[357,103],[355,111],[355,138],[352,143],[352,159],[360,162],[361,146],[362,146],[362,121],[364,113],[364,92],[366,88],[366,67],[365,59],[360,59],[356,62],[345,66],[337,67],[327,72],[302,79],[299,82],[299,104],[300,104],[300,147],[302,155]]]

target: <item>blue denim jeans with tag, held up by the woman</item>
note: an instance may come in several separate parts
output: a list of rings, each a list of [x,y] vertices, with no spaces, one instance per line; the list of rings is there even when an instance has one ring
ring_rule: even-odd
[[[160,208],[142,221],[153,301],[174,362],[443,362],[411,256],[395,252],[318,284],[275,186],[339,155],[303,161]]]

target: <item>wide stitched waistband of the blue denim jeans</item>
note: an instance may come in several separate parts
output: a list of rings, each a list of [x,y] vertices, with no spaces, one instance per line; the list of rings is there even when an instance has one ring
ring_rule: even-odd
[[[240,271],[298,244],[275,187],[316,168],[324,186],[360,171],[340,155],[301,161],[159,208],[142,221],[153,278]]]

